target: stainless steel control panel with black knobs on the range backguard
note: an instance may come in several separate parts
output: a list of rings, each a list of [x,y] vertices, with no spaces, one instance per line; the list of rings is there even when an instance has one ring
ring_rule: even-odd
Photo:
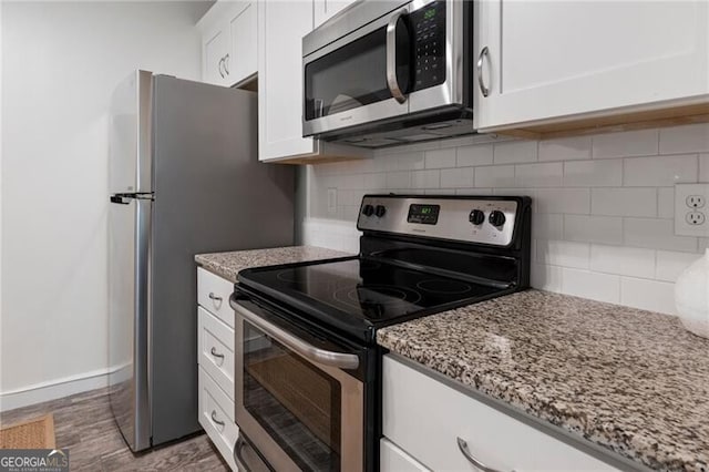
[[[508,246],[518,197],[364,195],[357,227],[465,243]]]

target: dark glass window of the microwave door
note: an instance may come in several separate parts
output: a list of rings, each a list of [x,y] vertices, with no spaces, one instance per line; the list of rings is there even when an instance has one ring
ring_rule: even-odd
[[[397,78],[405,93],[411,53],[405,20],[397,29]],[[316,59],[305,68],[306,120],[392,98],[387,84],[387,28],[379,28]]]

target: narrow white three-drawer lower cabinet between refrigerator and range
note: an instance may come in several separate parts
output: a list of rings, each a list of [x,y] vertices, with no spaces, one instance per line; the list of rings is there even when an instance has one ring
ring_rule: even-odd
[[[234,403],[234,285],[197,269],[197,363],[199,365],[199,424],[232,470],[239,429]]]

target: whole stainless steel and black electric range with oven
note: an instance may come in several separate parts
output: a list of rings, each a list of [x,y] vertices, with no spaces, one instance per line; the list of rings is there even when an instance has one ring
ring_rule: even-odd
[[[381,327],[530,285],[531,201],[366,195],[352,257],[239,273],[239,469],[374,471]]]

